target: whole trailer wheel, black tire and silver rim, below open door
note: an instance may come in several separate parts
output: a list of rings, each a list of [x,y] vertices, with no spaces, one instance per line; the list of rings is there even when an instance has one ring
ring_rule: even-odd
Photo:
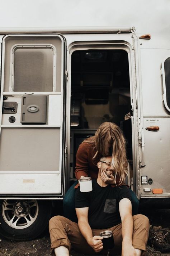
[[[47,227],[51,217],[50,200],[1,200],[0,237],[14,241],[32,240]]]

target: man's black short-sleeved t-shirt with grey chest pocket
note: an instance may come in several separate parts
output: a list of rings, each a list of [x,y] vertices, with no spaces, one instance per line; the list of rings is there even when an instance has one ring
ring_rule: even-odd
[[[80,192],[78,187],[75,194],[75,208],[89,207],[90,227],[107,229],[121,223],[119,202],[123,198],[131,200],[129,188],[126,185],[101,187],[96,179],[92,180],[92,187],[90,192]]]

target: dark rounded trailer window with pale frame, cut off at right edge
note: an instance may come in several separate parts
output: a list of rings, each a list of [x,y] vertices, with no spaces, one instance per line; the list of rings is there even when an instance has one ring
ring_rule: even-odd
[[[164,87],[164,104],[170,111],[170,57],[162,63],[162,76]]]

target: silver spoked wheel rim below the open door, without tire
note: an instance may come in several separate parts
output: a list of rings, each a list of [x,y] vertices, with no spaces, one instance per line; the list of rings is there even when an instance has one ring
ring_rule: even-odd
[[[11,228],[28,228],[38,216],[37,200],[5,200],[2,206],[2,216]]]

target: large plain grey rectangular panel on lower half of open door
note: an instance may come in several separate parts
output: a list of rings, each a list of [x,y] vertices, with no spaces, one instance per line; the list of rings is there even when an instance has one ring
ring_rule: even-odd
[[[0,171],[59,171],[60,128],[1,128]]]

